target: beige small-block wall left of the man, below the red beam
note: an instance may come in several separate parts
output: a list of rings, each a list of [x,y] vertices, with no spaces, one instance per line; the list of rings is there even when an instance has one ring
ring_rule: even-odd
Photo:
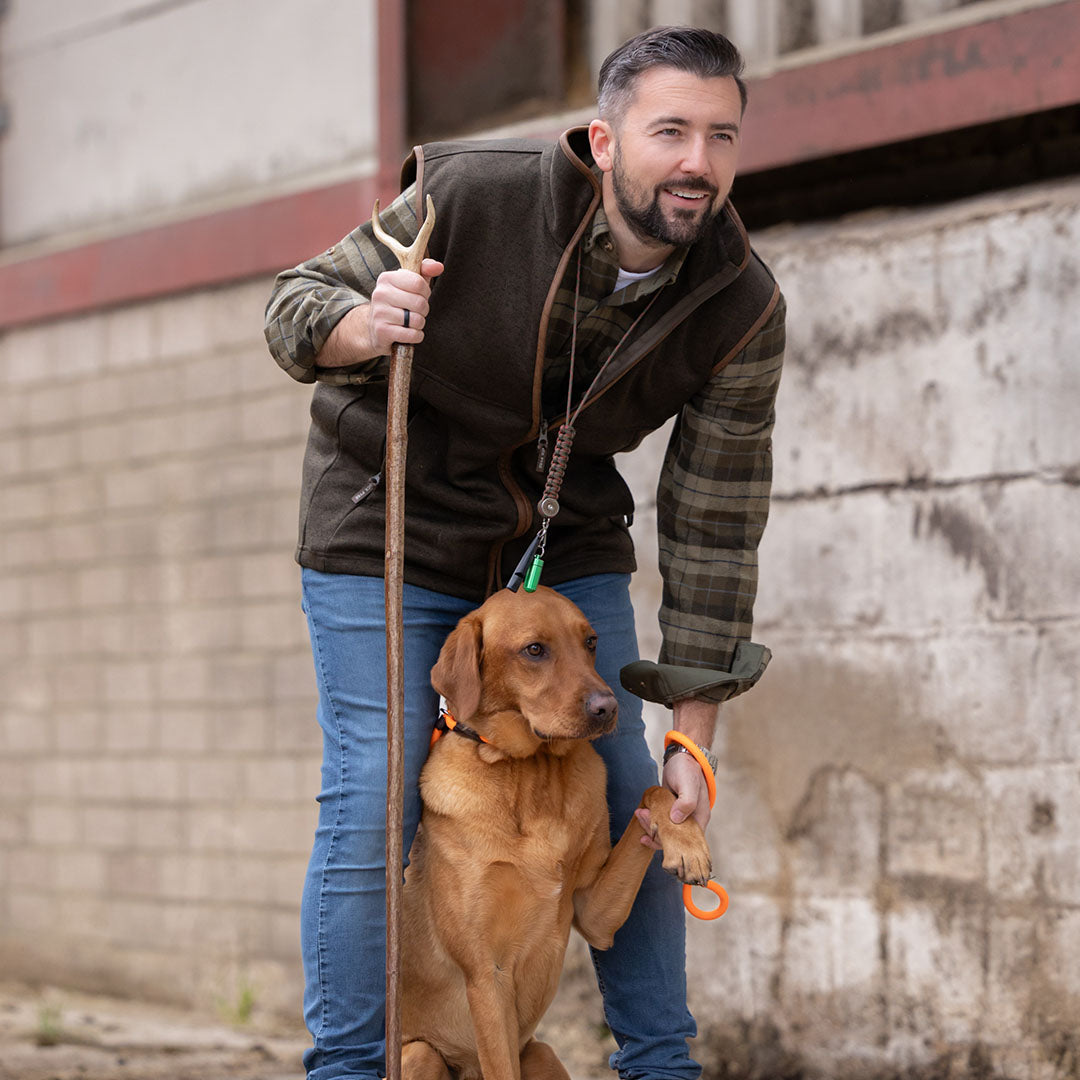
[[[297,1010],[309,394],[269,282],[0,338],[0,971]]]

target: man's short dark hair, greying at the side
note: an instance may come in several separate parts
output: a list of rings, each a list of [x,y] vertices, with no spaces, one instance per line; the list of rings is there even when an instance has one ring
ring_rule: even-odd
[[[650,68],[672,67],[701,79],[730,76],[745,111],[744,66],[742,54],[723,33],[692,26],[654,26],[623,42],[600,65],[597,109],[602,120],[618,123],[633,99],[637,77]]]

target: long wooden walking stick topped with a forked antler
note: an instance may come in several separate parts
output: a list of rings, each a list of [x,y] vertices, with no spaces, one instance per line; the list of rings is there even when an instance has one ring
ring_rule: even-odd
[[[402,269],[420,272],[435,208],[428,195],[423,226],[410,247],[388,235],[379,220],[379,201],[372,211],[372,231],[389,247]],[[394,345],[390,353],[387,393],[387,1080],[401,1080],[401,913],[403,816],[405,807],[405,631],[402,586],[405,562],[405,453],[408,387],[413,346]]]

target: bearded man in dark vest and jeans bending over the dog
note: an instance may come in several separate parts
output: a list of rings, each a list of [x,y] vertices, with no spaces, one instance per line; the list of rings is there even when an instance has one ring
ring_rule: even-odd
[[[431,194],[436,225],[420,274],[393,269],[364,225],[274,286],[271,351],[299,381],[318,382],[297,552],[325,745],[302,912],[310,1080],[367,1080],[383,1061],[381,472],[392,342],[422,342],[406,467],[406,851],[436,715],[430,669],[457,620],[507,583],[537,535],[568,414],[576,438],[568,461],[555,462],[565,475],[543,583],[584,610],[597,667],[620,694],[618,730],[596,744],[615,834],[656,783],[656,765],[640,703],[619,689],[638,654],[633,501],[612,455],[672,416],[658,498],[662,663],[636,665],[626,681],[673,705],[674,727],[707,750],[718,702],[753,685],[768,660],[748,637],[784,309],[726,201],[741,69],[719,35],[640,35],[605,62],[588,131],[554,146],[418,149],[383,224],[409,243]],[[707,822],[690,754],[665,760],[663,782],[678,796],[676,820]],[[680,893],[658,860],[615,946],[594,960],[619,1076],[699,1076],[686,1042],[694,1025]]]

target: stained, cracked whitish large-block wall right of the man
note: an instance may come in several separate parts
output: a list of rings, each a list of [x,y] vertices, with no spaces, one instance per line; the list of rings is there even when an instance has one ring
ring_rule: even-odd
[[[1080,1075],[1078,239],[1076,181],[758,238],[775,658],[690,928],[716,1070]]]

